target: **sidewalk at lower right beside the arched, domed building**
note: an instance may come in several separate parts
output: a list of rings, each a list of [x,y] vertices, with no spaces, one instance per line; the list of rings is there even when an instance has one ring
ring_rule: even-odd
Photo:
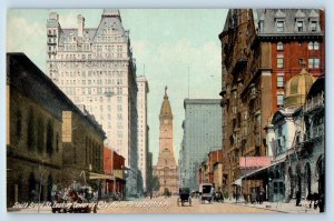
[[[252,207],[252,208],[262,208],[265,210],[272,210],[272,211],[277,211],[277,212],[284,212],[284,213],[320,213],[318,212],[318,208],[315,210],[313,208],[310,208],[307,201],[303,201],[301,202],[301,207],[296,207],[296,201],[292,200],[288,203],[285,202],[263,202],[262,204],[258,203],[245,203],[244,200],[239,200],[238,202],[236,202],[235,200],[229,200],[229,199],[225,199],[224,200],[225,203],[230,203],[230,204],[238,204],[238,205],[243,205],[243,207]]]

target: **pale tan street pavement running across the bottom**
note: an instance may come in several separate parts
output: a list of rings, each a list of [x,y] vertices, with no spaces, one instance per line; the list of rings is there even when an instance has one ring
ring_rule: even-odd
[[[184,207],[177,205],[177,197],[137,199],[131,201],[120,201],[112,203],[99,203],[98,213],[318,213],[318,210],[310,209],[307,202],[302,202],[302,207],[291,203],[250,204],[225,200],[224,203],[199,203],[198,199],[193,199],[191,207],[186,202]],[[50,207],[40,207],[13,210],[14,213],[51,213]]]

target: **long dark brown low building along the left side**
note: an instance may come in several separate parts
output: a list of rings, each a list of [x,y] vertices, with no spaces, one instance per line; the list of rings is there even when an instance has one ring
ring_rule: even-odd
[[[75,182],[101,192],[100,124],[23,53],[7,54],[7,205],[51,201]]]

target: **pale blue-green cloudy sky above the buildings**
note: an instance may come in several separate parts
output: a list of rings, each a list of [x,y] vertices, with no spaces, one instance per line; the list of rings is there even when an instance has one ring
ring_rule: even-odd
[[[97,28],[102,9],[11,9],[7,14],[7,51],[24,52],[46,72],[49,12],[59,13],[62,28]],[[165,86],[174,113],[174,151],[178,160],[185,119],[184,99],[219,99],[222,50],[218,34],[225,9],[120,9],[122,26],[130,31],[137,76],[148,80],[149,151],[156,164],[159,151],[159,112]],[[145,69],[144,69],[145,67]],[[188,92],[189,88],[189,92]]]

